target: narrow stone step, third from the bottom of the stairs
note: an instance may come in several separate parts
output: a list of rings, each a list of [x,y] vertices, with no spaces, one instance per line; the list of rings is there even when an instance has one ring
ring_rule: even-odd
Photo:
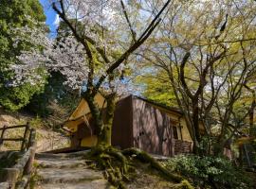
[[[40,168],[74,168],[86,166],[85,160],[78,159],[41,159],[36,160],[36,163]]]

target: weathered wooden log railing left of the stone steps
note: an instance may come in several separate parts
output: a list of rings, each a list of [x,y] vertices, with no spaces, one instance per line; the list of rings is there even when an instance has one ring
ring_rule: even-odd
[[[25,128],[23,138],[4,138],[6,130],[17,128]],[[36,150],[36,130],[31,129],[29,123],[22,126],[3,127],[0,130],[2,130],[0,138],[1,145],[3,145],[5,141],[21,141],[21,151],[23,152],[22,157],[17,160],[14,166],[0,169],[0,188],[27,188]]]

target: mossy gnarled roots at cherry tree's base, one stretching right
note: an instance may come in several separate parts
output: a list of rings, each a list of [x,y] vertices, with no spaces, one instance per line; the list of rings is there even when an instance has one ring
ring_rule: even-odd
[[[134,167],[131,166],[128,157],[135,157],[142,163],[150,163],[155,170],[162,173],[168,180],[173,180],[176,183],[184,180],[181,176],[168,171],[147,152],[134,147],[121,151],[112,146],[96,146],[86,155],[86,159],[93,160],[98,168],[104,170],[105,178],[119,189],[125,189],[124,181],[129,181],[128,173],[134,172]]]

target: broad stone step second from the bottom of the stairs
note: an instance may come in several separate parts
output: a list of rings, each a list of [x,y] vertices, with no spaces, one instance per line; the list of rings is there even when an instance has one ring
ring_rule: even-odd
[[[77,183],[82,180],[101,180],[103,175],[100,171],[80,168],[43,168],[37,170],[40,183]]]

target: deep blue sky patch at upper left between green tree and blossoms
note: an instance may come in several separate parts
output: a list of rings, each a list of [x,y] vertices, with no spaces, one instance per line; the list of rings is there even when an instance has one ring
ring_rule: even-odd
[[[50,27],[51,32],[56,31],[55,22],[58,20],[55,11],[50,7],[48,0],[40,0],[43,5],[46,14],[46,25]]]

